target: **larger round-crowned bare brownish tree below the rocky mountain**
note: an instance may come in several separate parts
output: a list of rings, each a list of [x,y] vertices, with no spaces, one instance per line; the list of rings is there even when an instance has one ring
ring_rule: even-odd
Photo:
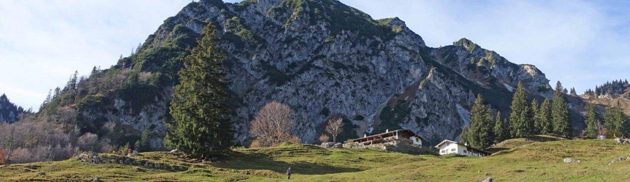
[[[295,142],[294,129],[293,111],[289,106],[272,101],[265,104],[251,121],[249,134],[256,138],[257,145],[274,146]]]

